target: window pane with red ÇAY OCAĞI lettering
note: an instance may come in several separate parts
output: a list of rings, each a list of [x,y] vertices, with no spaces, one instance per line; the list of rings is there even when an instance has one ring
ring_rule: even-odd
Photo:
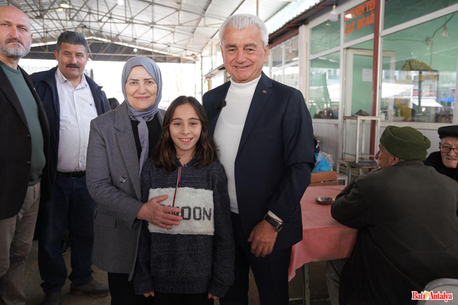
[[[374,32],[375,0],[367,0],[344,12],[344,42]]]

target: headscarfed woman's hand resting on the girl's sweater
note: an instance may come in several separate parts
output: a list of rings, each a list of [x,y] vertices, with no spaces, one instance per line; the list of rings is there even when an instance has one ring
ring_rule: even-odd
[[[183,217],[171,214],[171,212],[181,213],[181,209],[166,207],[159,204],[167,199],[167,197],[167,195],[161,195],[151,198],[143,204],[140,211],[138,211],[137,218],[146,220],[147,222],[164,229],[172,229],[173,225],[180,225],[180,221],[183,220]]]

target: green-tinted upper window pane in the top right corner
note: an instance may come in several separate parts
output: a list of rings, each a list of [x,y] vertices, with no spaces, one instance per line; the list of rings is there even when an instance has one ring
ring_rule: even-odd
[[[457,3],[458,0],[385,0],[383,27],[394,27]]]

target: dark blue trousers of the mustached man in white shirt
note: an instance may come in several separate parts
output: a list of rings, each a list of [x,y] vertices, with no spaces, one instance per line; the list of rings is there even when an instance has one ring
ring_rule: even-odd
[[[51,187],[51,200],[41,204],[43,227],[38,240],[38,268],[44,293],[58,292],[67,279],[62,257],[62,234],[70,232],[71,273],[75,286],[89,283],[92,277],[94,215],[97,203],[86,187],[86,176],[57,176]]]

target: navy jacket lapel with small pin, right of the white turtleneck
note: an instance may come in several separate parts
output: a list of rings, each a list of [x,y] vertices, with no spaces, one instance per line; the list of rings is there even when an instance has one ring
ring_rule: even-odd
[[[243,127],[242,136],[240,137],[237,155],[240,153],[240,150],[242,150],[242,147],[245,144],[246,139],[248,139],[248,135],[251,133],[251,129],[253,129],[262,108],[264,108],[264,105],[272,94],[271,88],[272,80],[270,80],[267,75],[262,72],[261,79],[256,86],[255,93],[253,94],[248,114],[246,115],[245,126]]]

